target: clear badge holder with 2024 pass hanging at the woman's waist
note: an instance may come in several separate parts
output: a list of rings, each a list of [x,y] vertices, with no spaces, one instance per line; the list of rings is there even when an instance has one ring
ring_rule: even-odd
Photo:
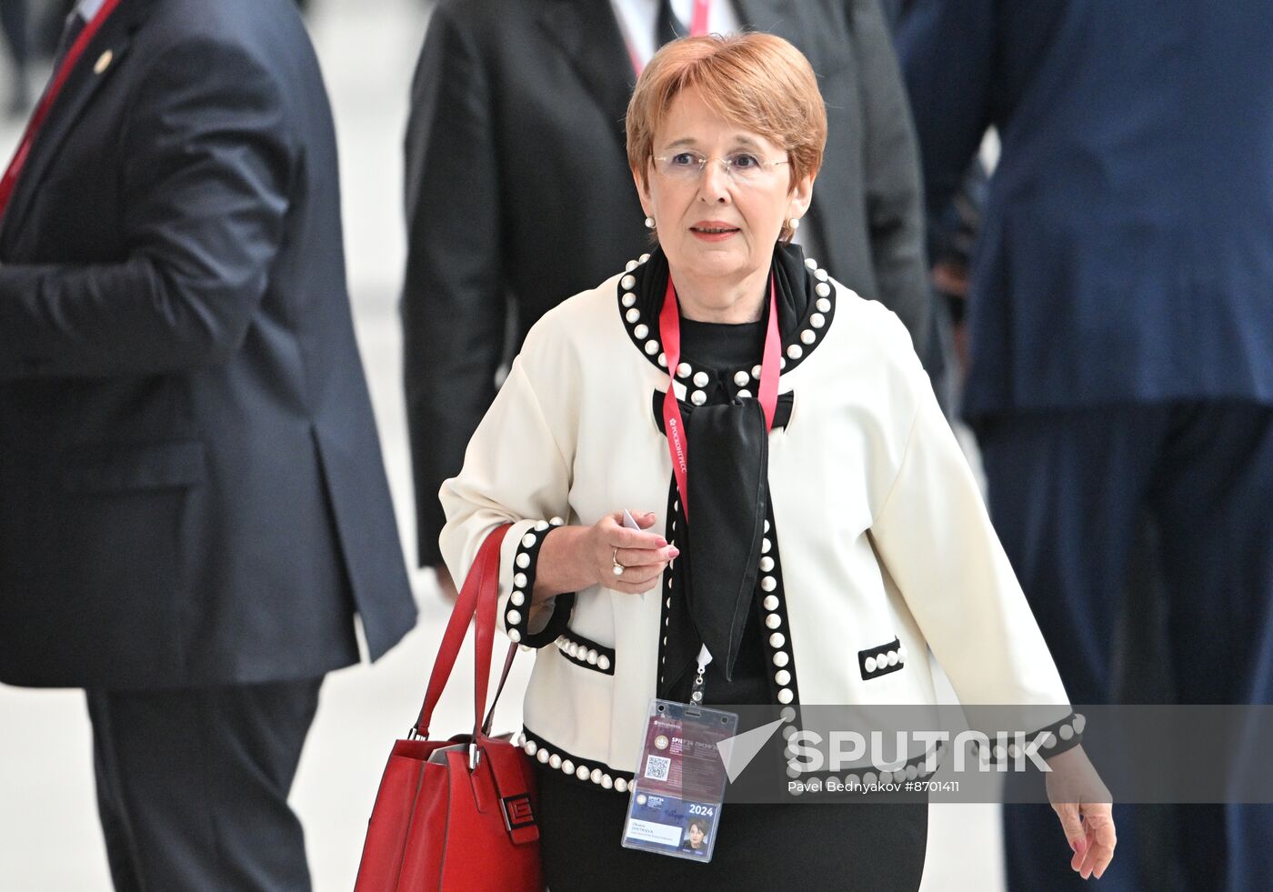
[[[625,849],[712,860],[728,783],[717,744],[738,733],[738,715],[699,705],[704,667],[700,662],[693,702],[649,705],[624,821]]]

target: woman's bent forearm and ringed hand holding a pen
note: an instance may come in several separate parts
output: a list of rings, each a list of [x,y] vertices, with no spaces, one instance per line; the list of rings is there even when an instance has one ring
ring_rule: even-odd
[[[591,527],[559,527],[546,536],[540,546],[531,603],[592,585],[628,594],[652,589],[681,552],[658,533],[647,532],[658,519],[653,512],[631,512],[631,515],[640,529],[624,527],[624,513],[615,512]],[[615,573],[616,561],[624,568],[621,574]]]

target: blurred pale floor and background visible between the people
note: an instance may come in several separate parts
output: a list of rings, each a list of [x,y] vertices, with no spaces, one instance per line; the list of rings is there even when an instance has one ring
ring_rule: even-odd
[[[0,0],[0,6],[9,4]],[[28,27],[38,32],[45,10],[55,5],[51,0],[28,0]],[[307,6],[340,141],[345,246],[358,337],[404,550],[414,557],[415,515],[397,317],[406,254],[402,136],[411,74],[432,4],[311,0]],[[11,48],[5,46],[0,55],[0,103],[8,107],[10,89],[5,88],[13,88],[18,79]],[[29,94],[43,85],[47,65],[31,61]],[[25,112],[18,112],[14,108],[0,120],[0,157],[5,162],[25,121]],[[322,690],[293,794],[320,892],[353,887],[390,746],[406,732],[424,695],[448,606],[432,573],[416,571],[414,582],[420,604],[416,630],[377,666],[332,673]],[[502,729],[521,727],[521,695],[532,659],[522,654],[514,668],[496,721]],[[471,685],[471,655],[462,655],[437,727],[460,729],[466,724],[463,692]],[[999,836],[997,807],[934,807],[924,888],[1003,888]],[[1057,856],[1068,855],[1059,830],[1055,842]],[[0,685],[0,889],[108,888],[83,692]]]

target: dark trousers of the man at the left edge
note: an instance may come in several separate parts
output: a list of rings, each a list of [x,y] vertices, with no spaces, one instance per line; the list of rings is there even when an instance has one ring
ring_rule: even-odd
[[[88,691],[115,888],[308,891],[288,793],[321,685]]]

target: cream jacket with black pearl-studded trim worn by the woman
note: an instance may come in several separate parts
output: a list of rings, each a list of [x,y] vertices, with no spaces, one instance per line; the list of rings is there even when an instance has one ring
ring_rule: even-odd
[[[794,392],[792,417],[769,443],[782,575],[761,597],[777,617],[764,644],[775,702],[932,704],[932,648],[965,704],[1066,705],[906,330],[817,276],[819,298],[783,345],[779,393]],[[625,286],[631,279],[615,276],[531,330],[463,470],[440,491],[442,552],[457,584],[485,534],[513,522],[499,624],[542,648],[526,693],[527,752],[620,790],[656,695],[665,588],[597,585],[569,612],[527,606],[547,520],[588,526],[629,508],[658,513],[653,529],[666,529],[672,467],[652,393],[667,372],[657,319],[633,318]],[[694,400],[689,372],[677,396]],[[735,377],[754,391],[746,369]]]

